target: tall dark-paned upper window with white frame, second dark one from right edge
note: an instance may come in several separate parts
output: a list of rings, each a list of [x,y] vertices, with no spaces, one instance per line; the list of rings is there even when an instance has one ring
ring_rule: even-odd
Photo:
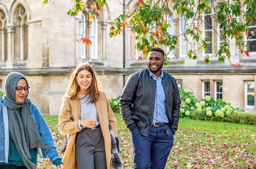
[[[210,38],[207,38],[210,37]],[[210,43],[210,40],[212,40],[212,14],[205,12],[203,14],[203,39],[206,39],[207,43]],[[203,50],[203,55],[209,55],[212,56],[212,45],[208,45],[207,50]]]

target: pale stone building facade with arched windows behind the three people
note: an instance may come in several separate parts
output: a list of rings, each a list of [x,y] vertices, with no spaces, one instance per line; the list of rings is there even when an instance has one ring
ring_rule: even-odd
[[[126,0],[125,3],[127,11],[134,9],[138,1]],[[170,1],[170,8],[171,4]],[[69,80],[67,70],[72,70],[77,63],[87,60],[94,65],[108,98],[119,96],[128,76],[147,67],[146,57],[140,62],[137,60],[142,53],[135,52],[135,34],[130,27],[125,27],[122,35],[111,39],[108,36],[108,23],[113,23],[123,12],[118,1],[107,1],[101,15],[89,23],[88,10],[79,12],[76,17],[67,16],[71,6],[70,1],[55,1],[54,5],[44,5],[38,0],[0,1],[0,88],[8,73],[23,73],[31,84],[29,98],[43,114],[59,113]],[[210,15],[206,13],[202,17],[214,26]],[[182,16],[172,12],[166,19],[173,25],[168,30],[170,34],[178,35],[183,31]],[[179,87],[194,92],[197,99],[210,95],[230,102],[233,107],[255,112],[256,27],[252,26],[249,32],[253,37],[249,39],[250,58],[240,54],[231,41],[231,62],[246,63],[242,69],[234,69],[228,60],[218,63],[215,57],[221,37],[201,26],[202,36],[212,36],[212,46],[209,45],[206,52],[198,51],[198,59],[191,60],[186,57],[189,44],[180,36],[175,51],[169,52],[171,64],[165,66],[164,71],[176,78]],[[217,25],[214,27],[219,31]],[[89,38],[92,46],[76,42],[86,28],[83,37]],[[173,52],[184,64],[176,64]],[[203,63],[206,54],[211,56],[210,64]]]

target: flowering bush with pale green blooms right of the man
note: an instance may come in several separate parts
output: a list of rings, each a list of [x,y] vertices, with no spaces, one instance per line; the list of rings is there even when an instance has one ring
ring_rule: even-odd
[[[239,110],[239,108],[234,109],[233,107],[230,107],[230,103],[223,102],[222,99],[217,99],[215,101],[211,96],[205,96],[202,100],[198,101],[191,95],[193,93],[188,92],[188,90],[179,90],[181,96],[180,117],[256,125],[256,114],[251,114],[243,109]],[[193,98],[193,101],[188,104],[186,102],[187,98]],[[195,108],[190,109],[190,113],[185,114],[183,109],[187,111],[188,107]]]

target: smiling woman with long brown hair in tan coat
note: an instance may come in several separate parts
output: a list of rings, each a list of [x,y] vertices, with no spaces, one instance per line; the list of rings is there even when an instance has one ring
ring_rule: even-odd
[[[59,115],[60,132],[71,134],[63,158],[65,169],[112,169],[109,122],[118,138],[116,118],[96,73],[88,62],[78,64]]]

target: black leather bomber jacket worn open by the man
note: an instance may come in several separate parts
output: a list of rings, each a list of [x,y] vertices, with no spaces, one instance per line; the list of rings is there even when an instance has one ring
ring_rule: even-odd
[[[162,79],[166,100],[166,114],[173,134],[178,129],[180,93],[174,77],[166,72]],[[142,135],[148,136],[155,107],[156,80],[149,76],[148,68],[129,76],[120,97],[120,114],[132,131],[136,125]],[[133,107],[132,107],[133,106]]]

